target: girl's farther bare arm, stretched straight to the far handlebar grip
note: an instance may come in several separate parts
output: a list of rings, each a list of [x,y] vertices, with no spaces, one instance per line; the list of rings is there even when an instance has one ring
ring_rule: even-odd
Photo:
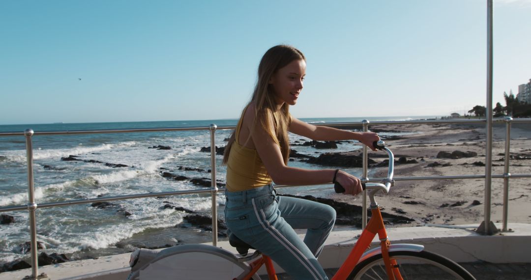
[[[328,126],[314,126],[292,117],[289,132],[302,135],[317,141],[357,140],[374,150],[372,143],[379,141],[380,137],[374,132],[351,132]]]

